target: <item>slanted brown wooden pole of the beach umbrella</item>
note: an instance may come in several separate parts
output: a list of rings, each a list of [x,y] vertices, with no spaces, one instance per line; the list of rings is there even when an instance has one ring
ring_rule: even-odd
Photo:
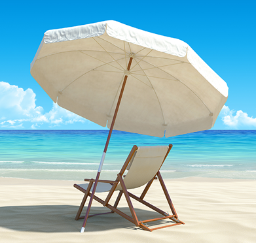
[[[133,57],[130,57],[130,60],[129,60],[129,63],[128,63],[128,66],[127,66],[127,70],[130,71],[130,67],[132,65],[132,59]],[[103,150],[103,154],[102,154],[102,157],[101,157],[101,161],[100,161],[100,166],[99,166],[99,169],[98,169],[98,173],[97,173],[97,176],[96,176],[96,180],[94,182],[94,187],[92,189],[92,194],[90,195],[90,201],[89,201],[89,204],[87,206],[87,210],[86,210],[86,215],[84,217],[84,223],[82,223],[82,229],[81,229],[81,233],[84,232],[84,228],[85,228],[85,225],[86,225],[86,221],[88,219],[88,216],[89,216],[89,212],[90,212],[90,207],[92,206],[92,200],[94,199],[94,194],[95,194],[95,191],[96,191],[96,187],[97,187],[97,184],[98,184],[98,180],[100,178],[100,172],[101,172],[101,169],[102,169],[102,166],[103,166],[103,162],[104,162],[104,159],[105,159],[105,155],[107,153],[107,147],[109,146],[109,140],[111,138],[111,134],[112,134],[112,131],[113,131],[113,127],[115,125],[115,120],[117,118],[117,112],[119,111],[119,106],[120,106],[120,102],[121,102],[121,99],[122,99],[122,94],[124,93],[124,87],[125,87],[125,84],[126,84],[126,80],[127,80],[128,76],[125,75],[124,76],[124,82],[122,83],[122,88],[121,88],[121,91],[120,91],[120,95],[119,95],[119,100],[117,101],[117,106],[115,108],[115,113],[114,113],[114,116],[113,116],[113,120],[111,122],[111,127],[109,129],[109,135],[107,136],[107,141],[106,141],[106,144],[105,144],[105,148]]]

